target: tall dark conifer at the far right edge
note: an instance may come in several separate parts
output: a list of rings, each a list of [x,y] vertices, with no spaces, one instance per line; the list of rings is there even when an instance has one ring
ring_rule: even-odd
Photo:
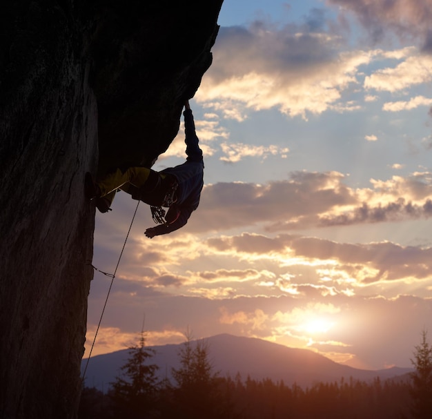
[[[422,341],[415,347],[411,360],[415,367],[415,372],[411,373],[411,413],[416,419],[432,418],[432,346],[426,337],[426,331],[422,331]]]

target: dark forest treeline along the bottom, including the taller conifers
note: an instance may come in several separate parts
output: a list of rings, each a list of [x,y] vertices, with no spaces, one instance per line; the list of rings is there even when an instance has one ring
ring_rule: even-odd
[[[84,387],[79,419],[430,419],[432,418],[432,345],[422,332],[409,376],[372,382],[316,382],[302,388],[283,381],[219,376],[206,340],[186,335],[173,369],[173,382],[157,379],[154,351],[139,344],[129,349],[122,375],[108,393]]]

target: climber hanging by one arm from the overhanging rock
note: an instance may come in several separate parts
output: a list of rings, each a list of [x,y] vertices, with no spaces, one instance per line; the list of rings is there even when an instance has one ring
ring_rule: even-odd
[[[125,170],[117,168],[99,182],[95,182],[92,175],[86,173],[86,196],[95,200],[99,211],[108,211],[118,188],[132,195],[133,199],[150,205],[153,220],[161,224],[146,229],[145,235],[150,239],[184,226],[190,214],[197,209],[204,186],[202,150],[198,145],[188,101],[183,115],[188,156],[184,164],[160,172],[146,167],[129,167]],[[168,208],[168,212],[162,207]]]

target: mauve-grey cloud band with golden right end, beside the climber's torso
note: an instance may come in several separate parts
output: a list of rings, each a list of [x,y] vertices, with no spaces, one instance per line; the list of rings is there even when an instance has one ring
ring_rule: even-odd
[[[202,193],[190,231],[227,231],[263,224],[268,231],[417,220],[432,215],[432,174],[371,179],[349,188],[337,172],[295,172],[268,184],[219,183]],[[229,216],[226,216],[226,215]]]

